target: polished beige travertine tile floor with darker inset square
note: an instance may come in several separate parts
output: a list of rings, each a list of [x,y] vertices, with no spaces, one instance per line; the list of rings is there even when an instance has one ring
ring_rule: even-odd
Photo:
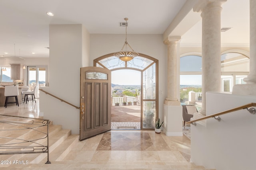
[[[38,117],[39,100],[17,106],[0,107],[0,114]],[[1,158],[1,157],[0,157]],[[204,169],[190,163],[190,140],[167,137],[164,133],[140,130],[112,130],[79,141],[60,162],[20,164],[0,169]]]

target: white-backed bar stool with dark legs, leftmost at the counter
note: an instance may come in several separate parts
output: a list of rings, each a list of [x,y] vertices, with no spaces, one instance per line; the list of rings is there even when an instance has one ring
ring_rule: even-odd
[[[5,86],[4,87],[4,96],[5,98],[5,104],[4,107],[7,107],[7,104],[16,103],[16,106],[19,106],[18,102],[18,96],[19,96],[19,86]],[[8,102],[8,98],[14,97],[15,102]]]

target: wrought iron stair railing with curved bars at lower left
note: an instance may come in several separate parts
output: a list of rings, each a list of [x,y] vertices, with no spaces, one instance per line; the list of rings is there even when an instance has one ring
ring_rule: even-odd
[[[0,115],[0,155],[47,153],[50,164],[49,124],[48,119]]]

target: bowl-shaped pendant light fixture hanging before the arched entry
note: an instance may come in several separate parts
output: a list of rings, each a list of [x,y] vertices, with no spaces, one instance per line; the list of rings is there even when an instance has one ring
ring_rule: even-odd
[[[124,18],[124,20],[126,21],[124,46],[122,47],[121,51],[114,53],[114,56],[118,57],[122,61],[131,61],[134,57],[139,56],[139,53],[136,53],[127,42],[127,21],[128,21],[128,18]]]

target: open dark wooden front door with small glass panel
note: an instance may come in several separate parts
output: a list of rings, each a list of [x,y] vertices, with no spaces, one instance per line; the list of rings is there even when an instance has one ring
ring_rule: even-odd
[[[111,129],[111,71],[80,68],[80,141]]]

